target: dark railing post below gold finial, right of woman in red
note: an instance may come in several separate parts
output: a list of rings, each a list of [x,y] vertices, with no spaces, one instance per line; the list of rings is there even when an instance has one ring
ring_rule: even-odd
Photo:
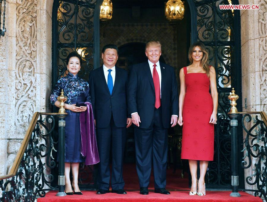
[[[237,173],[237,117],[238,114],[229,114],[230,126],[231,126],[231,151],[232,151],[232,176],[231,176],[231,185],[232,185],[232,193],[230,196],[232,197],[240,197],[241,195],[238,193],[238,185],[239,185],[239,176]]]

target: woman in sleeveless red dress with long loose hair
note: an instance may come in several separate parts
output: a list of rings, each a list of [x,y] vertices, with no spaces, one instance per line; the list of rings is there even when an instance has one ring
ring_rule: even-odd
[[[204,178],[209,161],[213,161],[218,93],[215,69],[208,64],[204,44],[191,45],[188,57],[191,64],[180,70],[178,124],[183,125],[181,158],[189,161],[192,176],[189,195],[201,196],[206,195]],[[198,180],[197,161],[200,161]]]

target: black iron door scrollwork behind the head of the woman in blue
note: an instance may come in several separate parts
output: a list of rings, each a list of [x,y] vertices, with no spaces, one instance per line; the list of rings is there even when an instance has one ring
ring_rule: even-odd
[[[57,14],[57,78],[66,70],[66,57],[78,52],[83,60],[79,76],[88,80],[93,70],[93,14],[96,0],[60,0]]]

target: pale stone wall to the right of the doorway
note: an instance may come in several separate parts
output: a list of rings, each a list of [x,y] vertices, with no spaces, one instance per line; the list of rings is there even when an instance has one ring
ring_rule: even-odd
[[[240,11],[242,110],[267,112],[267,0],[239,0],[239,4],[259,5],[259,10]],[[245,179],[255,172],[252,169],[245,169]]]

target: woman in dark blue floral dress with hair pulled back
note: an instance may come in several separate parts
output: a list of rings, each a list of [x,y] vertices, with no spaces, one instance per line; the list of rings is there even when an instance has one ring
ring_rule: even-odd
[[[53,105],[59,107],[60,102],[57,97],[60,95],[61,89],[68,98],[64,107],[68,113],[65,118],[65,191],[66,194],[72,195],[70,168],[74,194],[82,194],[78,186],[78,173],[80,162],[85,161],[81,155],[80,112],[86,111],[87,107],[77,107],[76,103],[90,102],[90,95],[88,82],[77,75],[81,68],[81,56],[77,52],[71,52],[67,56],[66,62],[69,73],[58,79],[50,100]]]

